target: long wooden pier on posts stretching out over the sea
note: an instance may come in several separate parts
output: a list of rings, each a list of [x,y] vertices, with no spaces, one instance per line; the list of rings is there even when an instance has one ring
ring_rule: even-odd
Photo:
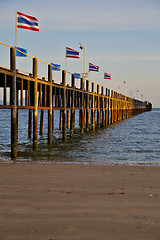
[[[80,79],[80,87],[76,87],[75,75],[71,73],[70,84],[66,84],[65,70],[61,70],[61,83],[57,84],[52,77],[51,64],[48,64],[48,79],[39,78],[38,61],[37,58],[33,58],[32,73],[21,73],[16,69],[16,49],[11,47],[10,69],[0,67],[0,88],[3,90],[3,103],[0,109],[11,110],[12,159],[17,157],[19,109],[28,110],[28,137],[33,138],[33,150],[37,151],[38,110],[41,111],[40,135],[43,134],[44,110],[48,111],[48,144],[51,145],[54,134],[54,110],[60,112],[59,127],[65,141],[66,129],[69,126],[70,137],[74,135],[76,109],[79,110],[80,131],[83,134],[84,131],[107,127],[152,108],[149,102],[129,98],[83,78]]]

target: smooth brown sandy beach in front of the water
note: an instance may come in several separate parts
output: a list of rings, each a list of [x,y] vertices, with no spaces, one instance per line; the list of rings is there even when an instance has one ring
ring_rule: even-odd
[[[160,168],[0,163],[1,240],[159,240]]]

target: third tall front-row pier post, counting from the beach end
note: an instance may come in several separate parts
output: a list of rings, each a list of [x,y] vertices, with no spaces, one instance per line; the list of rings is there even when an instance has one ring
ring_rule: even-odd
[[[48,65],[48,82],[49,85],[49,110],[48,110],[48,144],[52,144],[52,65]]]

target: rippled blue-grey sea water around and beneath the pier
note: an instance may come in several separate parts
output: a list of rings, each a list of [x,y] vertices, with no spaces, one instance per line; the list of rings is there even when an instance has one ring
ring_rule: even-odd
[[[11,162],[11,113],[0,110],[0,161]],[[38,151],[33,151],[33,140],[28,138],[28,111],[18,113],[17,162],[48,162],[77,164],[119,164],[160,166],[160,108],[151,112],[90,130],[83,135],[78,125],[78,111],[74,136],[67,131],[62,141],[59,130],[59,111],[55,111],[53,144],[47,144],[47,111],[44,114],[43,135],[38,137]],[[40,111],[38,119],[40,119]],[[40,124],[40,123],[39,123]]]

